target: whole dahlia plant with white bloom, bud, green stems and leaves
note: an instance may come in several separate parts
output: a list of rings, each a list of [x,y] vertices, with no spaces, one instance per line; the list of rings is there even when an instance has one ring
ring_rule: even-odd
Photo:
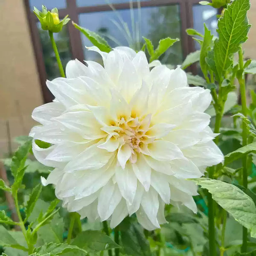
[[[187,29],[201,49],[175,69],[162,55],[178,39],[112,48],[73,22],[101,64],[75,59],[64,72],[53,32],[69,19],[35,9],[61,77],[46,81],[55,99],[34,109],[38,125],[3,159],[2,256],[256,253],[250,0],[200,3],[223,9],[218,37]]]

